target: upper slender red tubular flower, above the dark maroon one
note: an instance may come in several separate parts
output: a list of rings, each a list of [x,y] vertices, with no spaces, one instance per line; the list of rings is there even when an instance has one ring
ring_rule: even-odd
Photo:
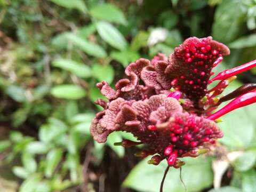
[[[249,70],[253,67],[256,67],[256,60],[247,62],[244,65],[235,67],[233,69],[223,70],[221,73],[219,73],[217,76],[213,77],[211,80],[216,81],[216,80],[227,79],[231,76],[237,75],[239,73],[243,73],[244,71]]]

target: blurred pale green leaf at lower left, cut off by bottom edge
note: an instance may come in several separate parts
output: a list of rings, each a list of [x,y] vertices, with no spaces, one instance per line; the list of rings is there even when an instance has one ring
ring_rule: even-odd
[[[19,192],[34,192],[42,179],[42,175],[33,174],[30,175],[20,186]]]

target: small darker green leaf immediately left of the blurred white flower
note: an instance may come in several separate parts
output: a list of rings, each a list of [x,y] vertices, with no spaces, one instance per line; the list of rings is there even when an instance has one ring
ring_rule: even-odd
[[[147,46],[149,33],[147,31],[139,31],[139,33],[132,39],[131,50],[139,51],[143,46]]]

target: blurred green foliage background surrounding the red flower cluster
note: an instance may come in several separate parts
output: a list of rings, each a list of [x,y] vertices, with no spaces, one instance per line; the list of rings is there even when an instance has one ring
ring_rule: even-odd
[[[138,148],[113,146],[131,135],[93,142],[95,83],[113,85],[129,62],[170,54],[190,36],[230,47],[217,71],[241,65],[256,58],[255,18],[255,0],[0,0],[0,191],[158,191],[166,162],[138,163]],[[255,110],[223,117],[213,156],[186,160],[188,191],[256,191]],[[226,156],[222,188],[211,189],[212,164]],[[172,169],[165,191],[184,190]]]

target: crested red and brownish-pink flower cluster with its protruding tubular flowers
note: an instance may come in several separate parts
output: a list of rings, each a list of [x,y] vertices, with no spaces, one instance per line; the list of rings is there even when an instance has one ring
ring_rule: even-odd
[[[125,69],[126,77],[116,83],[115,89],[107,82],[98,83],[108,101],[96,101],[104,110],[93,119],[93,139],[105,142],[111,132],[130,132],[138,142],[124,140],[115,145],[145,144],[135,155],[154,155],[149,164],[157,165],[166,159],[175,168],[184,164],[181,157],[206,153],[205,146],[223,137],[216,123],[218,118],[256,102],[255,84],[243,85],[219,97],[235,75],[256,65],[252,61],[210,79],[212,68],[228,54],[228,47],[212,37],[191,37],[176,47],[169,58],[158,54],[151,61],[139,59],[130,63]],[[207,90],[207,85],[217,80],[219,84]],[[234,100],[212,113],[221,102],[230,99]]]

